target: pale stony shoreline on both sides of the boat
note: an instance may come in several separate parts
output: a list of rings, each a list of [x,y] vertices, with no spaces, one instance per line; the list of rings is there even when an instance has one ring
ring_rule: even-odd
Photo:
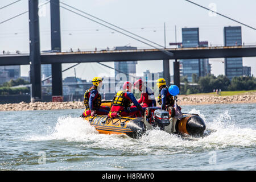
[[[179,95],[177,104],[184,105],[210,105],[210,104],[256,104],[256,94],[235,96],[209,96],[209,95]],[[84,109],[84,102],[20,102],[15,104],[0,104],[0,111],[21,110],[59,110]]]

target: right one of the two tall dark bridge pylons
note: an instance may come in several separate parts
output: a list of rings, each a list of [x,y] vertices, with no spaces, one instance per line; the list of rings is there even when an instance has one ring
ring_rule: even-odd
[[[61,52],[59,3],[59,0],[51,0],[51,47],[52,51]],[[52,64],[52,96],[61,96],[63,100],[61,63]]]

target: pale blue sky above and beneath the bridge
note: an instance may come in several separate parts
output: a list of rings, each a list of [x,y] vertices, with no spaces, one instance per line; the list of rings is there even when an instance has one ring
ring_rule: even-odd
[[[0,7],[15,0],[1,0]],[[218,13],[229,16],[242,23],[256,28],[255,0],[192,0]],[[39,0],[39,5],[46,3]],[[175,42],[175,26],[177,42],[182,42],[181,28],[199,27],[200,41],[208,41],[212,46],[223,46],[223,28],[225,26],[242,26],[242,42],[246,46],[256,45],[256,31],[214,15],[209,11],[197,7],[185,0],[61,0],[86,13],[97,16],[105,21],[122,27],[143,38],[164,46],[164,23],[166,24],[166,47]],[[28,0],[22,0],[14,5],[0,9],[0,22],[28,10]],[[51,49],[50,12],[49,3],[40,7],[40,49]],[[133,46],[138,48],[152,48],[119,34],[107,27],[101,26],[79,15],[60,8],[61,49],[68,51],[77,48],[84,51],[112,49],[117,46]],[[29,52],[28,13],[18,18],[0,24],[0,53],[2,50],[21,53]],[[224,75],[224,59],[209,59],[212,73],[216,76]],[[170,74],[173,75],[173,62],[170,60]],[[114,67],[113,62],[104,63]],[[63,69],[73,64],[63,64]],[[256,57],[244,57],[243,66],[251,67],[251,73],[256,75]],[[28,76],[28,65],[21,66],[21,75]],[[143,75],[146,70],[162,72],[162,60],[138,61],[137,75]],[[75,76],[74,69],[63,73],[63,78]],[[82,63],[76,67],[76,76],[92,80],[95,76],[114,76],[114,71],[97,63]]]

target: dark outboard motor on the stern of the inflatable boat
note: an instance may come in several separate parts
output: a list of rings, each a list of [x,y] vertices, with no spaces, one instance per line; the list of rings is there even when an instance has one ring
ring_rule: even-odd
[[[158,109],[154,112],[155,125],[164,130],[164,126],[170,125],[169,113],[166,110]]]

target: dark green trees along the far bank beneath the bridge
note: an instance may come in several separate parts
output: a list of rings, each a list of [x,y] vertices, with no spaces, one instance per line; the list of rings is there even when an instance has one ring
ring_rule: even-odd
[[[214,76],[207,75],[198,77],[196,74],[192,75],[192,82],[197,83],[196,86],[188,85],[187,77],[181,77],[180,82],[184,85],[180,86],[180,94],[193,94],[193,93],[209,93],[213,90],[221,91],[234,91],[234,90],[256,90],[256,78],[249,76],[234,77],[231,81],[224,75]],[[10,80],[0,85],[0,95],[11,94],[27,94],[30,93],[30,88],[11,88],[17,85],[26,85],[30,82],[18,78]],[[140,97],[140,94],[138,94]]]

